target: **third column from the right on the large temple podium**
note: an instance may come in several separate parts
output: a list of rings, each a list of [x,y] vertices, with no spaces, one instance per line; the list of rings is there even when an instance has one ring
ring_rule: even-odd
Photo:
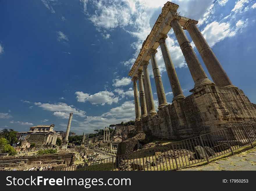
[[[170,85],[172,88],[172,92],[173,92],[173,101],[175,100],[181,100],[184,99],[185,96],[183,95],[181,86],[179,84],[179,79],[178,76],[176,74],[175,71],[175,67],[173,65],[173,61],[170,57],[165,39],[167,38],[167,35],[161,35],[159,38],[159,44],[161,47],[161,51],[162,51],[162,55],[163,55],[163,60],[165,63],[165,67],[166,67],[166,72],[168,74],[169,77],[169,81],[170,81]]]

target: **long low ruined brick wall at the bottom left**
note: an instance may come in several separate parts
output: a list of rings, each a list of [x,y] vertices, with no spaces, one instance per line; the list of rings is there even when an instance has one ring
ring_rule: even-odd
[[[66,163],[65,160],[68,159],[69,164],[72,165],[73,163],[74,153],[64,153],[64,154],[47,154],[47,155],[36,155],[36,156],[22,156],[22,157],[15,157],[15,156],[7,156],[5,158],[0,158],[0,162],[4,160],[28,160],[27,164],[30,165],[33,161],[42,161],[42,163],[51,160],[63,160],[63,163]]]

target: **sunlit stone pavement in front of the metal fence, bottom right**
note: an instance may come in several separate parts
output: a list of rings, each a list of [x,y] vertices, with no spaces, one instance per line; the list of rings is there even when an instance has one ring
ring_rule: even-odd
[[[212,161],[207,165],[181,170],[256,170],[256,149],[247,154],[239,153],[222,160]]]

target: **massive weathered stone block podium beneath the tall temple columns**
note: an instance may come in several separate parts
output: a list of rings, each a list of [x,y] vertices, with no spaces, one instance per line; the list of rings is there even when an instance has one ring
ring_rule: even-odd
[[[137,122],[138,131],[153,136],[185,139],[256,118],[256,105],[242,90],[208,85],[190,96]]]

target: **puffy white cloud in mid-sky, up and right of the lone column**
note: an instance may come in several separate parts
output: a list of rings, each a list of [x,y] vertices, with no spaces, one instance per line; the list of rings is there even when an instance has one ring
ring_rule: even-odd
[[[83,92],[76,92],[75,94],[77,95],[77,101],[79,102],[89,101],[92,104],[101,105],[105,105],[105,103],[109,105],[112,103],[118,103],[118,97],[115,97],[113,92],[109,92],[107,90],[92,95]]]

